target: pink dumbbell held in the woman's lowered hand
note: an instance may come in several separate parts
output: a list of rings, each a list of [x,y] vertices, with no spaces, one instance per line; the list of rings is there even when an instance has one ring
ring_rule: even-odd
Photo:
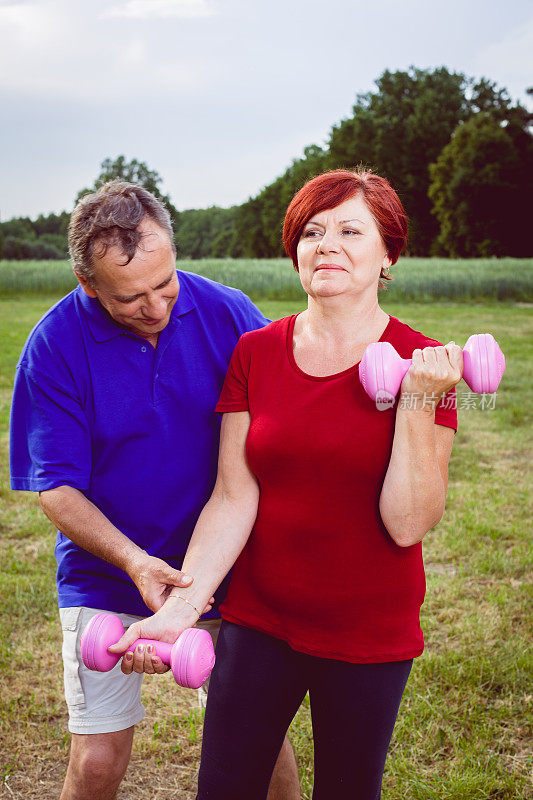
[[[88,669],[109,672],[124,655],[110,653],[107,649],[123,636],[124,625],[120,617],[102,611],[86,625],[81,636],[81,658]],[[125,652],[132,652],[138,644],[153,645],[155,654],[169,664],[174,680],[188,689],[198,689],[209,677],[215,665],[213,641],[208,631],[187,628],[174,644],[154,639],[137,639]]]

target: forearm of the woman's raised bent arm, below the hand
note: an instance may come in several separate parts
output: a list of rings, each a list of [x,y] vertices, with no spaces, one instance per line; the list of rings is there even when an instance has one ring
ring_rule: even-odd
[[[446,488],[439,468],[435,412],[398,407],[389,467],[379,501],[381,518],[402,547],[420,542],[444,513]]]

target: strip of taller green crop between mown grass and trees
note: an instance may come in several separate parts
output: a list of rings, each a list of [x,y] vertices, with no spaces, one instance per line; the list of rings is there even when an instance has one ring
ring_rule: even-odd
[[[253,299],[301,300],[300,281],[288,259],[178,259],[180,269],[236,286]],[[387,294],[412,300],[533,301],[533,259],[454,260],[402,258]],[[65,294],[76,285],[66,261],[0,261],[0,297],[20,293]]]

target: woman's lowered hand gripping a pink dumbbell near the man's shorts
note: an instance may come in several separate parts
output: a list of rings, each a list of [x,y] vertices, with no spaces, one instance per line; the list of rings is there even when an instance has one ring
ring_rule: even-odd
[[[215,598],[211,597],[202,613],[211,610]],[[178,596],[167,598],[165,604],[152,617],[134,622],[116,644],[109,647],[113,653],[124,653],[137,639],[156,639],[173,644],[186,628],[192,628],[198,622],[198,614],[188,603]],[[146,672],[149,675],[162,674],[170,669],[168,664],[155,654],[153,645],[138,645],[134,653],[124,653],[121,664],[122,672]]]

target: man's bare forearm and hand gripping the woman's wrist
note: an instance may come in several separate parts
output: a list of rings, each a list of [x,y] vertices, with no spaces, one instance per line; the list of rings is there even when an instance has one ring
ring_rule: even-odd
[[[126,572],[144,602],[157,611],[173,586],[189,586],[192,578],[149,556],[102,514],[94,503],[72,486],[39,493],[41,508],[51,522],[87,552]]]

